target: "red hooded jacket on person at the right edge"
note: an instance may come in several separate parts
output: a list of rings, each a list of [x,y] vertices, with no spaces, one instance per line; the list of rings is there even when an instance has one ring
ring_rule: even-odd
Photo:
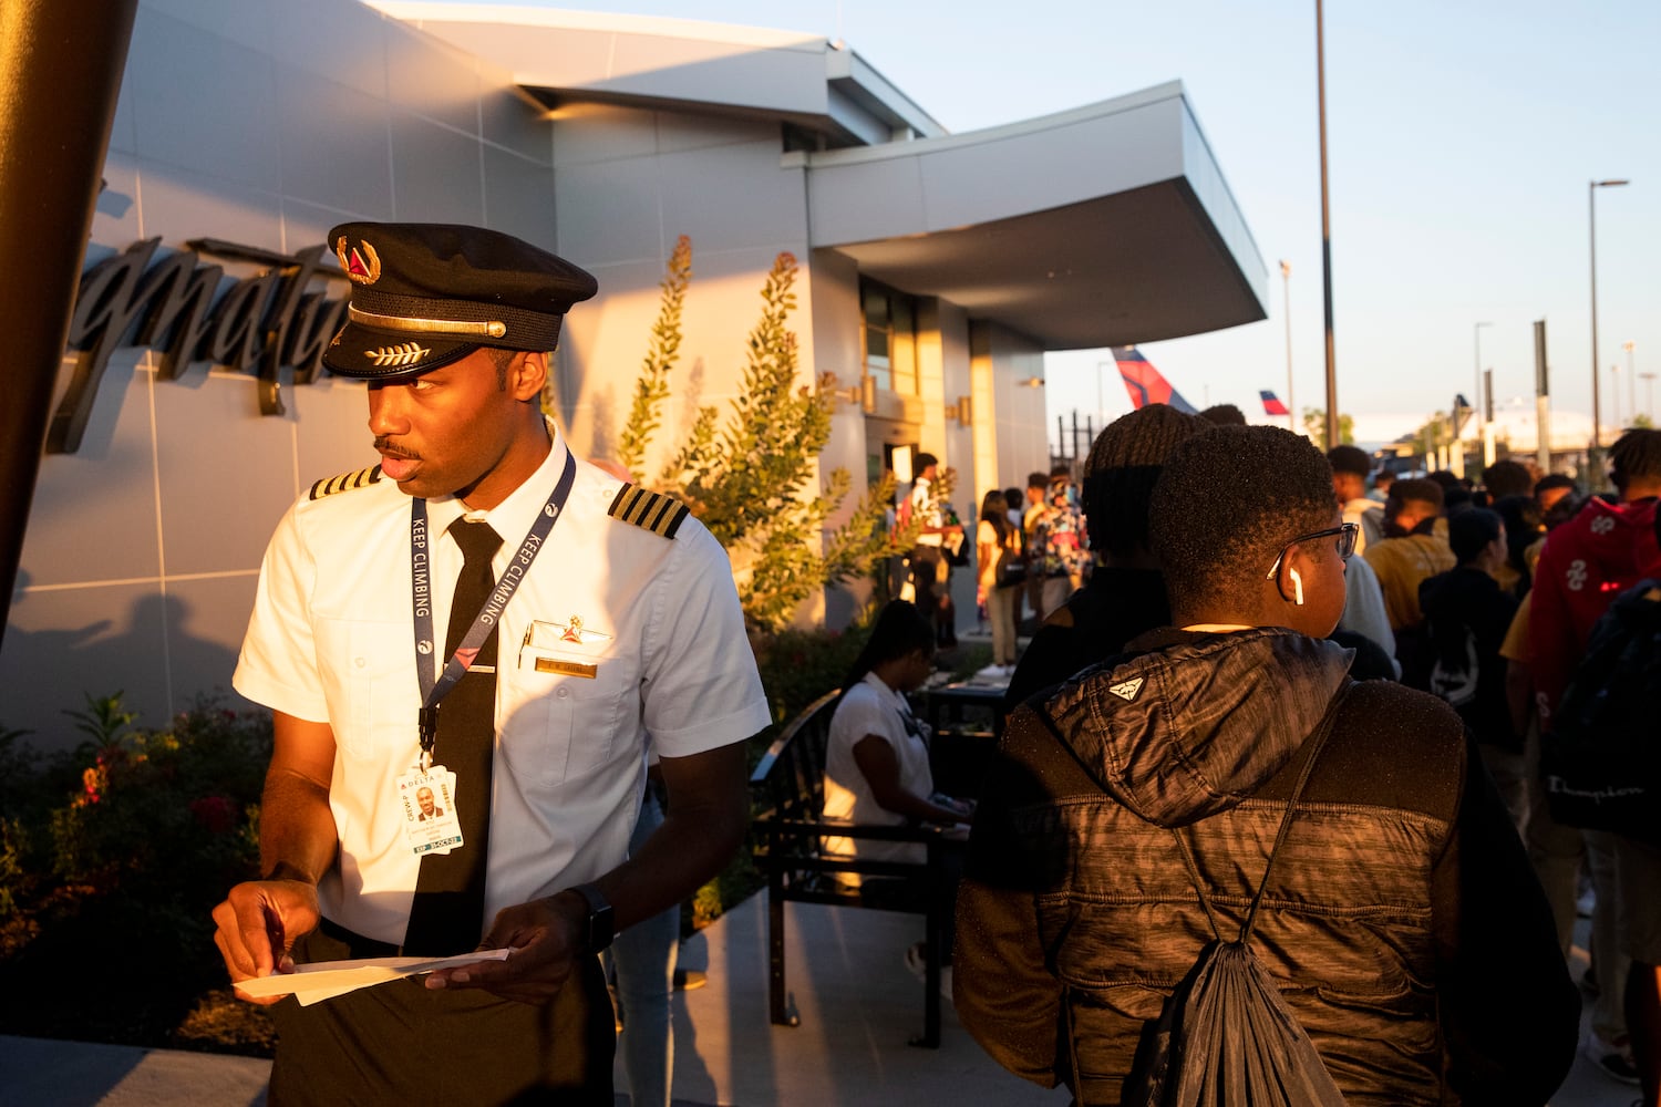
[[[1656,501],[1590,500],[1546,536],[1535,566],[1528,647],[1541,722],[1556,707],[1591,637],[1591,626],[1616,596],[1661,574]]]

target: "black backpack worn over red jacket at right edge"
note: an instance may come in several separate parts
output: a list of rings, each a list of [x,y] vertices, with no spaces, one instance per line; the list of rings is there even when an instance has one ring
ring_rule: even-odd
[[[1661,843],[1661,579],[1603,612],[1540,749],[1551,818]]]

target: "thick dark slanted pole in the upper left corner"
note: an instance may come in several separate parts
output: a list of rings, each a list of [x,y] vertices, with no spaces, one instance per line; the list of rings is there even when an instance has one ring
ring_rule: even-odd
[[[138,0],[0,3],[0,634]]]

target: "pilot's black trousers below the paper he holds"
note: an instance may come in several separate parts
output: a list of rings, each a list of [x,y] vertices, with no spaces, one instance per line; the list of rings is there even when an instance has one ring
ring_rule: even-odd
[[[394,953],[334,924],[294,959]],[[615,1024],[598,958],[583,958],[548,1004],[483,991],[427,991],[422,978],[360,988],[309,1007],[272,1007],[271,1107],[299,1104],[558,1104],[611,1107]]]

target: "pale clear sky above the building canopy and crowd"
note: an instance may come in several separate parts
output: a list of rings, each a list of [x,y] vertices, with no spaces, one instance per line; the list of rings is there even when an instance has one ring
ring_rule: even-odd
[[[1325,403],[1312,2],[590,0],[842,38],[953,133],[1181,80],[1271,274],[1264,322],[1143,347],[1196,405],[1264,420],[1259,388]],[[1399,0],[1325,5],[1339,405],[1382,441],[1475,398],[1533,410],[1533,320],[1553,408],[1591,408],[1588,181],[1598,189],[1603,422],[1661,370],[1661,5]],[[1633,342],[1633,350],[1623,350]],[[1055,415],[1129,410],[1106,352],[1053,354]],[[1106,363],[1106,365],[1103,365]],[[1611,375],[1610,367],[1619,372]],[[1636,383],[1633,397],[1631,383]]]

